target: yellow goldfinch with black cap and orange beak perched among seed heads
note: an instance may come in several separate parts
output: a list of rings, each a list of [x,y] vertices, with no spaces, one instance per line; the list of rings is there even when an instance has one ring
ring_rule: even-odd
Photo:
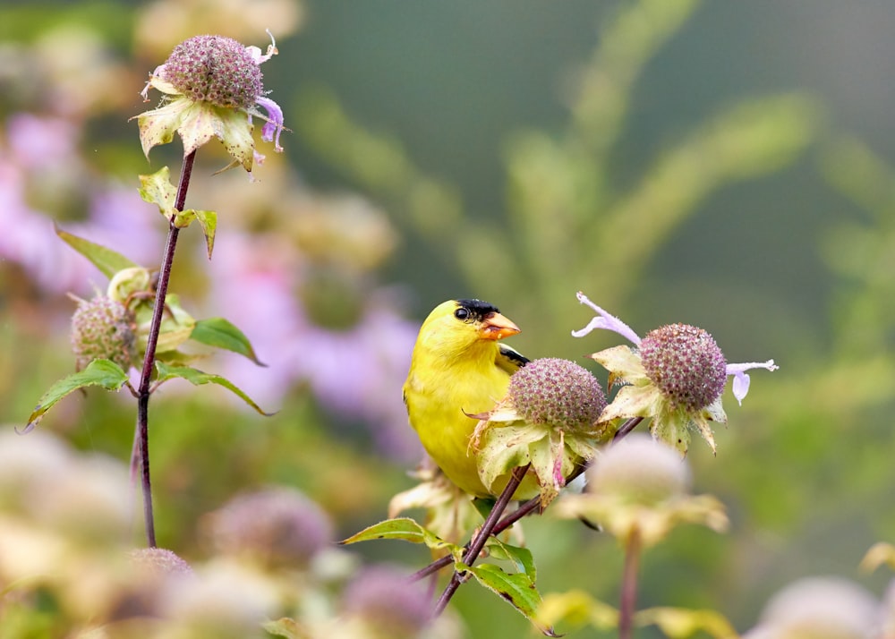
[[[410,425],[447,479],[476,497],[493,494],[479,479],[469,449],[478,422],[469,415],[490,411],[507,395],[510,375],[528,362],[499,343],[518,332],[488,302],[449,300],[430,312],[413,346],[404,384]],[[537,490],[536,481],[526,478],[516,498],[532,497]]]

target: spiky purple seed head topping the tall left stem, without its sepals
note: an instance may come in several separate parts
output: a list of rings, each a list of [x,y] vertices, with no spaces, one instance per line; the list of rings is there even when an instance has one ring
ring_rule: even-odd
[[[196,36],[174,49],[161,77],[183,95],[227,108],[249,109],[264,93],[261,70],[233,38]]]

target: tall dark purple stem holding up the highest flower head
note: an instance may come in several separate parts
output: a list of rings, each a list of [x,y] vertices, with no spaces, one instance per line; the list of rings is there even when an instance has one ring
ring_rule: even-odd
[[[196,159],[196,151],[192,151],[183,158],[183,166],[180,171],[180,184],[177,187],[175,208],[183,210],[186,204],[186,191],[190,187],[192,165]],[[155,368],[156,348],[158,347],[158,334],[161,330],[162,317],[165,314],[165,298],[168,282],[171,280],[171,266],[174,263],[174,253],[177,248],[177,236],[180,229],[172,220],[168,224],[168,235],[165,243],[165,252],[162,257],[161,268],[158,274],[158,286],[156,288],[155,304],[152,308],[152,321],[149,324],[149,336],[146,340],[146,354],[143,357],[143,368],[140,376],[140,387],[137,389],[137,445],[141,461],[141,486],[143,490],[143,521],[146,525],[146,542],[149,548],[156,546],[156,526],[152,513],[152,482],[149,479],[149,382],[152,379],[152,371]]]

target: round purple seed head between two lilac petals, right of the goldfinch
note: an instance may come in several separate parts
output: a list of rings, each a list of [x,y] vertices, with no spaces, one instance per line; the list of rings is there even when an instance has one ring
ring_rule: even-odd
[[[669,324],[646,334],[640,344],[646,376],[673,408],[697,411],[724,390],[727,363],[714,338],[702,328]]]

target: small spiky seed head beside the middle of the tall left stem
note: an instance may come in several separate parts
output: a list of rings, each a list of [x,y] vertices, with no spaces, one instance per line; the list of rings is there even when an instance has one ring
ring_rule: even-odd
[[[78,370],[95,359],[115,362],[127,371],[136,356],[136,319],[122,302],[97,295],[79,300],[72,315],[72,352]]]

